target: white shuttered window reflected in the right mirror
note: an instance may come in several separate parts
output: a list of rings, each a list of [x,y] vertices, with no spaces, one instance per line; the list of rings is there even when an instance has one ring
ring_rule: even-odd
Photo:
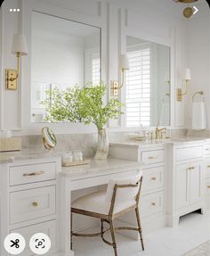
[[[150,48],[145,45],[127,53],[130,69],[126,71],[126,126],[150,125]]]

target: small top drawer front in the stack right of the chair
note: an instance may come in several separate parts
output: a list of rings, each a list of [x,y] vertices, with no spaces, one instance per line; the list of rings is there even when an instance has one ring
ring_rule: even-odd
[[[152,150],[141,153],[141,161],[143,164],[151,164],[164,161],[164,150]]]

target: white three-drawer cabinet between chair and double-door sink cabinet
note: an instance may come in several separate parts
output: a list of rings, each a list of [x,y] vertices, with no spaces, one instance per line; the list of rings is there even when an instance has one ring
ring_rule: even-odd
[[[111,157],[139,161],[142,170],[140,213],[144,232],[166,226],[166,151],[163,144],[111,144]]]

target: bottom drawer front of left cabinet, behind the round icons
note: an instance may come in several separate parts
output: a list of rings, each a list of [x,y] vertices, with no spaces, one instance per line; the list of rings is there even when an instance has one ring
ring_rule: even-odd
[[[23,252],[21,252],[21,256],[34,256],[35,254],[30,251],[29,248],[29,240],[32,235],[35,235],[36,233],[44,233],[48,235],[51,239],[51,250],[48,252],[49,255],[53,251],[55,251],[55,248],[57,247],[57,239],[56,239],[56,221],[51,220],[47,221],[41,224],[36,224],[28,227],[21,227],[18,229],[13,229],[10,231],[10,233],[19,233],[20,235],[23,235],[23,237],[26,240],[26,248]]]

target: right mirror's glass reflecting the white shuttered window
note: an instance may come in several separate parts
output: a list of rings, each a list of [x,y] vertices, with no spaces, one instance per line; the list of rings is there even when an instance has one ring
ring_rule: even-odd
[[[170,126],[170,47],[126,37],[126,126]]]

